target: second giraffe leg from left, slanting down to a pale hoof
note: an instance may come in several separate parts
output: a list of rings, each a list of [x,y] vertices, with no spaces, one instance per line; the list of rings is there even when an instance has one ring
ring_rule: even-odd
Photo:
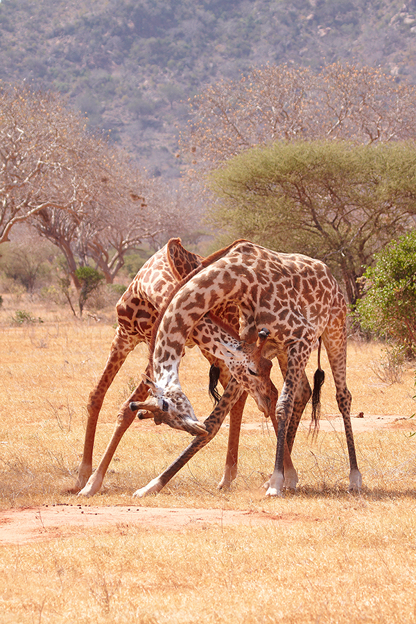
[[[128,430],[132,422],[136,417],[136,413],[130,410],[130,401],[144,401],[148,396],[148,388],[142,381],[137,386],[136,390],[128,398],[127,401],[121,407],[119,415],[117,416],[116,427],[110,442],[105,449],[105,453],[100,460],[100,463],[96,467],[94,473],[89,477],[86,485],[78,492],[78,496],[94,496],[101,488],[105,473],[110,465],[110,462],[116,452],[116,448],[119,446],[119,442],[123,437],[125,431]]]

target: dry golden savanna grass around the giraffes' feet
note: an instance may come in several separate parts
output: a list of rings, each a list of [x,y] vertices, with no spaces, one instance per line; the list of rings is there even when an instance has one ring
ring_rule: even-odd
[[[10,322],[30,309],[44,323]],[[64,491],[83,447],[85,405],[114,333],[114,314],[100,322],[62,309],[0,309],[1,508],[77,504]],[[33,544],[1,546],[0,622],[66,623],[416,623],[416,436],[410,415],[414,370],[383,383],[374,370],[381,345],[351,342],[348,383],[353,416],[397,415],[390,428],[356,434],[363,493],[349,496],[344,435],[308,436],[310,410],[297,435],[293,462],[299,491],[264,499],[274,462],[274,433],[250,401],[241,434],[239,477],[219,492],[227,430],[157,496],[134,505],[220,508],[278,514],[270,526],[216,526],[164,531],[148,526],[74,530]],[[107,395],[98,423],[97,461],[117,408],[146,363],[130,355]],[[315,354],[309,378],[315,368]],[[338,413],[329,367],[322,418]],[[281,386],[279,373],[273,376]],[[181,379],[198,417],[211,410],[207,364],[187,352]],[[354,419],[353,419],[354,425]],[[135,422],[116,453],[94,505],[130,505],[132,492],[156,476],[189,443],[166,426]]]

